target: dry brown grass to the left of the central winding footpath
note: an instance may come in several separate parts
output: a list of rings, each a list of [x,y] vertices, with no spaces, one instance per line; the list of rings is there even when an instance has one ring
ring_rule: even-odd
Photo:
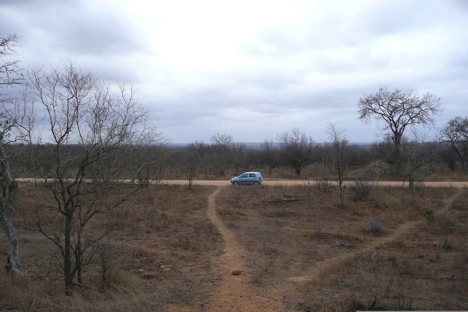
[[[222,250],[219,231],[206,217],[207,197],[213,189],[156,186],[141,196],[131,211],[131,222],[144,221],[150,209],[156,208],[157,213],[139,232],[126,229],[106,238],[114,246],[106,254],[111,267],[106,283],[99,261],[83,273],[84,283],[100,291],[77,287],[73,296],[65,296],[59,262],[50,258],[55,246],[42,234],[20,231],[20,257],[29,277],[11,278],[0,270],[0,306],[19,311],[106,312],[180,310],[190,305],[194,311],[201,310],[198,303],[208,298],[218,279],[212,273],[211,259]],[[112,200],[103,198],[100,204]],[[37,213],[50,218],[49,210],[36,211],[39,202],[30,193],[22,194],[18,212],[23,220],[36,218]],[[90,231],[108,226],[118,217],[113,213],[119,211],[95,218]],[[1,233],[0,262],[6,261],[6,253],[6,238]],[[144,278],[139,269],[154,278]]]

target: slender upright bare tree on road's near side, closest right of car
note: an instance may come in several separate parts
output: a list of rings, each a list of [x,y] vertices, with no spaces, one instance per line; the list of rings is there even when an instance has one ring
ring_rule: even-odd
[[[344,206],[345,181],[348,180],[349,169],[357,159],[357,146],[350,145],[346,137],[346,129],[337,128],[335,124],[329,123],[325,129],[329,141],[325,142],[324,149],[332,172],[336,174],[340,188],[340,201]]]

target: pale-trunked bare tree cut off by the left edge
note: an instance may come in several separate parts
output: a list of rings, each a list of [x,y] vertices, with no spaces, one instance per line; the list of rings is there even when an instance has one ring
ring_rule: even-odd
[[[20,43],[16,34],[3,35],[0,33],[0,88],[13,88],[26,85],[23,70],[19,67],[19,60],[7,59],[16,54],[15,46]],[[0,93],[0,224],[9,240],[7,263],[5,268],[13,274],[22,275],[19,258],[19,235],[11,223],[10,216],[16,209],[18,200],[18,183],[10,170],[10,162],[17,160],[20,155],[11,154],[8,147],[21,140],[24,123],[32,121],[34,109],[15,109],[13,99],[8,94]]]

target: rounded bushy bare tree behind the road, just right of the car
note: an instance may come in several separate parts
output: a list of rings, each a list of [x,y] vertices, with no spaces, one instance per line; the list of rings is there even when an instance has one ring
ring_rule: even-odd
[[[315,141],[312,137],[307,137],[305,132],[299,128],[292,128],[291,132],[285,131],[278,134],[276,139],[279,141],[283,159],[297,175],[304,167],[314,161]]]

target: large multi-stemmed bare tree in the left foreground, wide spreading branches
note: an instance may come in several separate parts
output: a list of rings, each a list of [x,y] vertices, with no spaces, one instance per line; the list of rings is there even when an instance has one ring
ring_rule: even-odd
[[[93,261],[95,244],[111,231],[137,226],[129,219],[129,211],[153,184],[133,185],[123,161],[145,149],[148,142],[164,145],[166,140],[148,126],[151,112],[139,103],[131,85],[118,84],[119,91],[114,93],[110,84],[73,64],[53,67],[50,72],[31,68],[29,79],[45,114],[40,129],[50,134],[50,143],[48,148],[29,145],[36,178],[30,191],[44,205],[37,207],[36,219],[28,228],[43,233],[57,246],[55,256],[60,258],[70,294],[76,283],[83,283],[82,269]],[[44,153],[48,162],[40,161]],[[156,161],[153,155],[139,160],[141,168]],[[148,220],[152,213],[150,209]],[[101,231],[91,230],[89,221],[102,214],[109,216],[107,225]]]

